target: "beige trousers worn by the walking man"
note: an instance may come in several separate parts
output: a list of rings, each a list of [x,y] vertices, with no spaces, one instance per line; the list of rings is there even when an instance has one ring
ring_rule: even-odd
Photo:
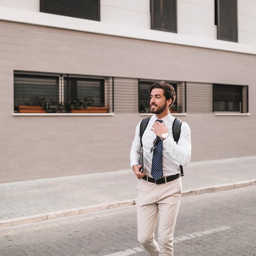
[[[137,184],[139,243],[151,256],[173,255],[173,233],[182,193],[181,177],[165,184],[139,180]],[[158,223],[158,243],[155,229]]]

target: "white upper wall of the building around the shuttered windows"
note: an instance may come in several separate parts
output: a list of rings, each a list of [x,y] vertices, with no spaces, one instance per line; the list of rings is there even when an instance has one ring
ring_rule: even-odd
[[[255,4],[255,0],[238,0],[235,44],[216,39],[213,0],[177,0],[178,33],[150,29],[150,0],[101,0],[100,22],[39,13],[40,0],[0,0],[0,20],[256,54]]]

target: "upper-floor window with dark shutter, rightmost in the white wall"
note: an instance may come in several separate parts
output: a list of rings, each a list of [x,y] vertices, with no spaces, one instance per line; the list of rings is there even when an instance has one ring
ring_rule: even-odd
[[[218,39],[238,42],[236,0],[215,0],[215,25]]]

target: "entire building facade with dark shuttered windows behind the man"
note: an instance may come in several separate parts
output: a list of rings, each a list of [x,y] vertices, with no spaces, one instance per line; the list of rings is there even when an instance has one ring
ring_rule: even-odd
[[[161,80],[191,161],[255,155],[256,1],[61,2],[0,0],[0,182],[129,169]]]

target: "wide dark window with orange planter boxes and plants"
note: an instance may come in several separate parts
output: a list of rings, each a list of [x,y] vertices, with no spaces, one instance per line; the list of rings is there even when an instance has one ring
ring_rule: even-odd
[[[31,106],[36,108],[31,110]],[[107,112],[105,78],[14,72],[15,112],[67,113],[78,110]]]

